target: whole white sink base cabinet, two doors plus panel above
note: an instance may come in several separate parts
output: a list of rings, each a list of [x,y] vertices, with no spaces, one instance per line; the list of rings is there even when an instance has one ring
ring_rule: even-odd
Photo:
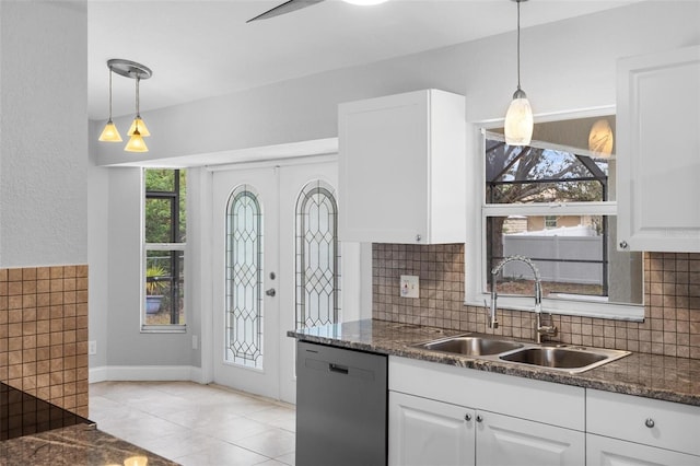
[[[388,464],[583,465],[584,409],[582,388],[389,358]]]

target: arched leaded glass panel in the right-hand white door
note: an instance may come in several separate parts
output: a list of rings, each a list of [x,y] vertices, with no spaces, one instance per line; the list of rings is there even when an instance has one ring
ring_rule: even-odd
[[[316,180],[296,200],[296,328],[338,322],[340,249],[334,189]]]

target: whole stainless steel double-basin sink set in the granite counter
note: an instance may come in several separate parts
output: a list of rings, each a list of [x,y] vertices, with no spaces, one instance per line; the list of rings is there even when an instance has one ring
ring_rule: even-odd
[[[431,351],[475,359],[534,365],[578,374],[630,354],[629,351],[574,345],[528,343],[490,336],[460,335],[415,345]]]

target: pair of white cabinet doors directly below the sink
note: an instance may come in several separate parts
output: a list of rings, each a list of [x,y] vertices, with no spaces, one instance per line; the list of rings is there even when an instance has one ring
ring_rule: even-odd
[[[389,465],[582,465],[584,434],[389,392]]]

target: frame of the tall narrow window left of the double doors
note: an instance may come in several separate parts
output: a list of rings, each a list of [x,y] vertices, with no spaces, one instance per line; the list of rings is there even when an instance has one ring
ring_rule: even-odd
[[[140,288],[141,288],[141,304],[140,304],[140,333],[142,334],[184,334],[187,331],[187,300],[183,303],[183,312],[184,312],[184,323],[183,324],[145,324],[145,289],[143,283],[145,283],[145,264],[148,253],[151,251],[165,251],[165,252],[182,252],[183,260],[185,261],[184,267],[186,266],[186,258],[188,256],[187,242],[179,243],[147,243],[145,242],[145,203],[148,199],[158,199],[158,198],[175,198],[175,210],[179,211],[179,201],[180,196],[179,193],[176,191],[152,191],[152,195],[149,195],[149,191],[145,190],[145,171],[147,170],[172,170],[175,173],[174,179],[175,189],[179,187],[179,172],[185,168],[171,168],[171,167],[143,167],[141,170],[141,260],[140,260]],[[187,171],[185,172],[185,177],[188,176]],[[186,199],[187,203],[187,199]],[[187,210],[187,207],[185,207]],[[171,223],[174,225],[175,231],[179,232],[179,215],[173,215],[171,218]],[[187,230],[187,224],[185,225]],[[182,289],[187,288],[187,278],[186,278],[186,269],[183,270],[183,284]],[[185,296],[187,293],[185,293]]]

